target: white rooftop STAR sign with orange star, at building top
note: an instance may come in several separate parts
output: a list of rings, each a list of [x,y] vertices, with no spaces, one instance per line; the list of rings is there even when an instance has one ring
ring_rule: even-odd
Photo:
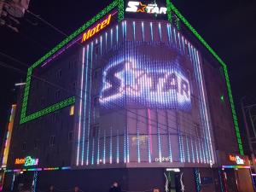
[[[159,7],[157,3],[143,4],[142,2],[128,2],[126,12],[132,13],[147,13],[147,14],[164,14],[166,15],[166,7]]]

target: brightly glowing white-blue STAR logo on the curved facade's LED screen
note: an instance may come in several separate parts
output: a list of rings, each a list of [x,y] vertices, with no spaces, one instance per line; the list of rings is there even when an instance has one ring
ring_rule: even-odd
[[[141,64],[141,63],[140,63]],[[100,103],[113,101],[148,108],[190,108],[189,80],[173,62],[148,61],[148,67],[135,60],[111,63],[103,71]]]

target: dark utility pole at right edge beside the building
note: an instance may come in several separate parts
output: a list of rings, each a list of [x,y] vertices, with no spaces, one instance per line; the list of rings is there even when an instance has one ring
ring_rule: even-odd
[[[250,106],[244,106],[244,103],[243,103],[244,99],[245,99],[245,97],[241,98],[241,111],[242,111],[242,115],[243,115],[244,124],[245,124],[245,127],[246,127],[247,141],[248,141],[249,148],[250,148],[250,154],[251,154],[251,157],[252,157],[252,160],[253,160],[253,170],[254,170],[254,172],[256,172],[255,155],[254,155],[253,143],[252,143],[252,138],[256,137],[256,134],[255,134],[256,131],[254,129],[253,118],[252,118],[252,114],[251,114],[251,111],[250,111],[251,108],[256,107],[256,104],[250,105]],[[247,111],[246,110],[248,111],[249,118],[251,119],[251,123],[252,123],[252,126],[253,126],[254,137],[251,137],[251,135],[250,135],[249,127],[248,127],[248,124],[247,124],[247,115],[246,115]]]

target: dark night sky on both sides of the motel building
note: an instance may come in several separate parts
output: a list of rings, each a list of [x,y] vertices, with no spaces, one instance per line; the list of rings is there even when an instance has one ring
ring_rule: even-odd
[[[65,2],[65,3],[63,3]],[[29,10],[62,32],[70,34],[111,1],[31,0]],[[175,0],[177,9],[226,62],[240,126],[242,96],[256,96],[256,0]],[[32,15],[20,20],[19,33],[0,26],[0,52],[31,65],[64,38]],[[0,61],[26,71],[25,66],[0,54]],[[14,84],[25,74],[0,66],[0,131],[6,128],[9,108],[15,102]],[[2,134],[0,136],[3,136]]]

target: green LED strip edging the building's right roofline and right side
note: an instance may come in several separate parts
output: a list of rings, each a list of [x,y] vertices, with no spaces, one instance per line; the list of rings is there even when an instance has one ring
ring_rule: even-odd
[[[236,109],[235,109],[235,104],[234,104],[234,100],[233,100],[233,96],[232,96],[232,91],[231,91],[231,87],[230,87],[230,78],[229,78],[229,74],[228,74],[228,69],[226,64],[224,63],[224,61],[222,61],[222,59],[220,59],[220,57],[216,54],[216,52],[209,46],[209,44],[207,44],[207,42],[201,37],[201,35],[195,31],[195,28],[193,26],[191,26],[189,24],[189,21],[186,20],[183,15],[181,15],[181,13],[177,10],[177,8],[171,3],[170,0],[166,0],[166,4],[167,4],[167,14],[168,14],[168,20],[170,22],[172,22],[172,11],[175,13],[175,15],[177,15],[177,17],[183,21],[183,24],[185,26],[187,26],[189,28],[189,30],[191,32],[194,33],[195,37],[198,38],[198,40],[201,42],[201,44],[203,44],[209,51],[210,53],[217,59],[217,61],[221,64],[221,66],[224,68],[224,74],[225,74],[225,79],[226,79],[226,84],[227,84],[227,88],[228,88],[228,93],[229,93],[229,97],[230,97],[230,106],[231,106],[231,110],[232,110],[232,116],[233,116],[233,121],[234,121],[234,125],[235,125],[235,129],[236,129],[236,138],[237,138],[237,143],[238,143],[238,148],[240,151],[240,154],[244,154],[243,153],[243,147],[242,147],[242,143],[241,143],[241,135],[240,135],[240,131],[239,131],[239,126],[238,126],[238,122],[237,122],[237,117],[236,117]]]

